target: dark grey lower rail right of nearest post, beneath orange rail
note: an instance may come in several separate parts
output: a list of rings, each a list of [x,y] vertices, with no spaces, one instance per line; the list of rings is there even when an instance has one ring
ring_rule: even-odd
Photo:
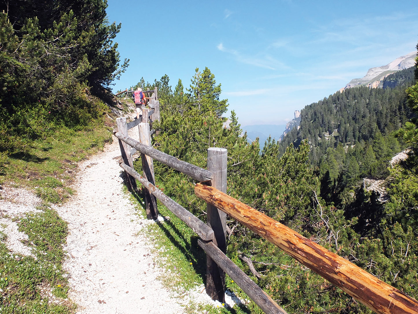
[[[251,280],[237,265],[232,262],[213,242],[197,240],[199,246],[214,260],[217,265],[257,304],[269,314],[287,314],[262,288]]]

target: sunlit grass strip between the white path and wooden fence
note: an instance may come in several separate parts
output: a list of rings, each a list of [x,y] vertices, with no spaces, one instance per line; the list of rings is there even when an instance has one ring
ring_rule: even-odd
[[[140,183],[137,183],[138,187],[140,187]],[[158,184],[159,188],[164,189],[162,183]],[[138,203],[138,208],[140,208],[138,214],[146,216],[142,196],[133,195],[131,200]],[[156,222],[155,224],[150,224],[141,233],[153,244],[153,252],[158,256],[155,260],[157,265],[166,270],[165,274],[161,275],[159,279],[181,299],[191,289],[205,284],[206,255],[197,244],[197,239],[199,238],[197,234],[159,201],[158,211],[161,216],[169,217],[169,219],[166,219],[163,223]],[[241,300],[250,299],[228,275],[226,277],[227,290],[234,292]],[[210,304],[198,304],[196,302],[189,302],[184,307],[186,313],[190,314],[263,313],[253,301],[248,301],[246,305],[235,305],[232,309],[222,306],[214,307]]]

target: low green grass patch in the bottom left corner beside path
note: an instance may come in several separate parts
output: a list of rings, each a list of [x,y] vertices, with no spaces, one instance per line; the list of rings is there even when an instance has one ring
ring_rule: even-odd
[[[19,231],[28,234],[32,256],[12,253],[0,241],[0,313],[69,314],[74,305],[65,300],[68,282],[64,278],[62,245],[67,236],[67,224],[47,206],[41,212],[29,213],[18,222]],[[49,293],[58,304],[51,301]]]

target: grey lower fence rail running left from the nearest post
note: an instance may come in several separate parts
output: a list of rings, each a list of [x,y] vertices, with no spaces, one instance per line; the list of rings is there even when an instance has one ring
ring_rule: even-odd
[[[120,167],[122,167],[123,170],[125,170],[127,173],[129,173],[135,179],[137,179],[140,183],[142,183],[145,186],[145,188],[147,188],[150,191],[151,194],[158,198],[161,201],[161,203],[163,203],[164,206],[166,206],[174,215],[176,215],[178,218],[184,221],[184,223],[187,226],[189,226],[194,232],[196,232],[196,234],[198,234],[199,237],[206,241],[212,240],[214,238],[213,230],[199,218],[191,214],[190,211],[173,201],[173,199],[166,196],[166,194],[164,194],[160,189],[158,189],[155,185],[151,184],[142,175],[140,175],[138,172],[136,172],[128,165],[122,162],[120,163]]]

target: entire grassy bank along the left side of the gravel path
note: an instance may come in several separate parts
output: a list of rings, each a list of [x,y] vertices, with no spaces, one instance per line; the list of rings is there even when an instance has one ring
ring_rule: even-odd
[[[100,123],[84,131],[59,129],[17,152],[0,156],[0,186],[28,188],[43,200],[36,213],[22,218],[1,215],[28,235],[25,244],[33,248],[33,256],[11,252],[5,245],[7,235],[0,232],[0,313],[75,312],[76,306],[67,299],[68,281],[62,270],[67,223],[50,204],[65,202],[73,193],[70,186],[77,162],[111,141],[112,127]]]

